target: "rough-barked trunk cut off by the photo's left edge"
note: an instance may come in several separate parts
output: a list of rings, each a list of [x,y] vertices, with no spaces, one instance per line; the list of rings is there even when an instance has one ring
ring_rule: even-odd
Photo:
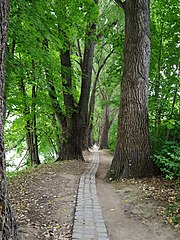
[[[0,239],[17,240],[17,227],[9,203],[4,150],[4,79],[9,1],[0,1]]]

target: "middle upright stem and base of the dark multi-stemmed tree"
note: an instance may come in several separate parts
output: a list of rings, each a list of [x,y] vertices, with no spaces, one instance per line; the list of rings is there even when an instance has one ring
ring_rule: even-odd
[[[59,155],[59,160],[81,159],[83,160],[81,144],[80,144],[80,128],[78,124],[78,109],[75,106],[73,98],[73,86],[71,75],[71,59],[70,59],[70,45],[69,48],[60,55],[61,58],[61,75],[63,78],[63,96],[66,113],[64,121],[66,124],[62,125],[62,147]]]

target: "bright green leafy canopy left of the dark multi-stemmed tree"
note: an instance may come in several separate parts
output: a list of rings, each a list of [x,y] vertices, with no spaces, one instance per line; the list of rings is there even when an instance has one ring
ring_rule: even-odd
[[[27,150],[27,122],[32,122],[35,114],[39,154],[45,160],[56,158],[61,129],[53,117],[48,81],[53,82],[59,105],[65,113],[59,55],[72,42],[76,56],[77,39],[84,39],[87,23],[97,22],[97,19],[98,7],[93,0],[12,2],[5,86],[7,150],[16,149],[19,154]],[[78,102],[80,71],[75,61],[77,58],[72,56],[72,93]],[[34,99],[33,86],[36,87]],[[28,162],[28,157],[25,161]]]

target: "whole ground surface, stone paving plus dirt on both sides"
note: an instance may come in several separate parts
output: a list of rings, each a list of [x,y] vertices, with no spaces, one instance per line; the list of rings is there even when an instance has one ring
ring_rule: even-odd
[[[162,215],[167,194],[178,197],[179,185],[159,178],[108,183],[110,151],[96,147],[84,158],[42,164],[9,179],[22,240],[180,240],[179,225]]]

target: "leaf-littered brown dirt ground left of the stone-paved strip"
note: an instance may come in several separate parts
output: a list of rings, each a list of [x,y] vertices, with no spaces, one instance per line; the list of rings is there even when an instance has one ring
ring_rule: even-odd
[[[79,178],[88,163],[42,165],[9,181],[22,240],[71,239]]]

